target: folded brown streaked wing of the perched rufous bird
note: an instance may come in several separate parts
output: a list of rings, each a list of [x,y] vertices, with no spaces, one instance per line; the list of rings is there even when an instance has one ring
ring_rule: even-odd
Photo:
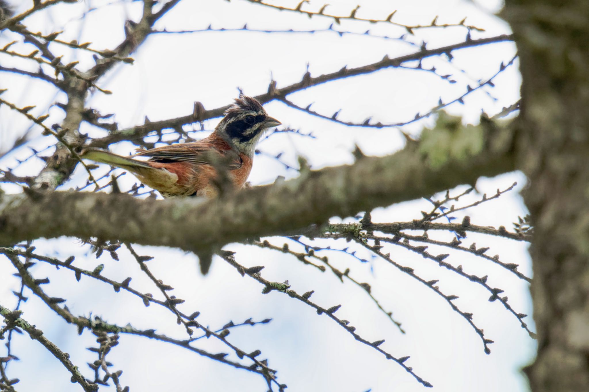
[[[150,150],[140,150],[135,156],[148,156],[155,162],[188,162],[193,165],[211,165],[214,153],[220,157],[228,169],[239,169],[242,160],[235,150],[227,146],[218,146],[206,139],[193,143],[175,144],[156,147]]]

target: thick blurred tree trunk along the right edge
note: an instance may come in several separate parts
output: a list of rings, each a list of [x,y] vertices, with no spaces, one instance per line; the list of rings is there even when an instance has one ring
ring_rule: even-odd
[[[518,166],[538,356],[532,391],[589,391],[589,1],[507,0],[522,73]]]

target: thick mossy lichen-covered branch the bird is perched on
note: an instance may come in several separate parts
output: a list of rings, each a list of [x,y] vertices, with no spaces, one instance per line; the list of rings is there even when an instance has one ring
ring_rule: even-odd
[[[434,130],[424,131],[419,141],[409,140],[393,155],[359,158],[351,166],[305,172],[219,200],[140,200],[80,192],[5,195],[0,200],[0,244],[77,236],[207,252],[509,172],[515,169],[513,133],[485,119],[464,128],[459,118],[444,114]]]

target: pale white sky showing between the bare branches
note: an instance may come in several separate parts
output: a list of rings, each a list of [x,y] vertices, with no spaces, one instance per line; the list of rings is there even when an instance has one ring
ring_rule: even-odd
[[[112,5],[90,12],[83,23],[80,21],[80,15],[88,7],[111,2]],[[19,11],[29,5],[29,2],[25,3],[18,8]],[[297,2],[280,4],[296,6]],[[321,5],[312,1],[303,5],[303,9],[318,9]],[[339,1],[327,11],[348,15],[356,5],[355,1]],[[473,32],[472,38],[476,39],[509,33],[505,22],[489,14],[500,8],[501,2],[497,1],[375,0],[363,2],[357,15],[386,18],[398,9],[393,20],[405,24],[429,24],[436,15],[439,15],[439,24],[455,23],[466,16],[466,24],[487,30]],[[49,8],[48,12],[27,19],[27,26],[32,31],[44,33],[63,30],[61,39],[65,41],[77,39],[79,42],[91,41],[92,47],[98,49],[114,48],[124,37],[124,20],[137,21],[140,9],[141,2],[121,4],[118,1],[87,0],[78,5]],[[309,19],[292,12],[277,12],[241,0],[184,0],[156,27],[178,31],[203,29],[209,25],[213,28],[240,28],[247,23],[250,29],[307,31],[328,28],[332,22],[327,18]],[[103,114],[114,113],[119,127],[125,128],[143,123],[146,115],[150,120],[187,115],[191,113],[195,100],[201,101],[207,109],[227,105],[237,96],[238,87],[248,95],[263,93],[272,78],[277,81],[278,87],[287,86],[302,78],[307,63],[311,74],[316,76],[336,71],[344,65],[353,67],[375,62],[385,54],[393,58],[415,50],[406,42],[378,38],[399,37],[405,33],[405,29],[395,26],[343,21],[333,28],[359,33],[370,29],[372,36],[340,37],[335,32],[268,34],[244,31],[153,35],[132,55],[134,65],[119,65],[101,79],[101,88],[111,90],[112,95],[95,92],[88,99],[88,106]],[[424,29],[415,31],[415,36],[409,39],[417,45],[425,39],[428,48],[436,48],[460,42],[465,34],[464,28]],[[0,45],[5,45],[8,39],[0,36]],[[22,49],[25,53],[31,51],[28,46],[15,45],[14,48],[25,48]],[[63,52],[65,59],[80,61],[79,68],[82,70],[92,65],[91,56],[87,53],[72,54],[57,45],[52,45],[51,49],[56,53]],[[325,83],[294,93],[289,99],[303,107],[315,102],[313,110],[328,116],[342,109],[339,115],[342,120],[363,122],[371,116],[375,122],[402,122],[411,120],[415,113],[426,112],[437,104],[439,98],[444,102],[457,98],[466,91],[467,83],[474,87],[477,79],[487,80],[498,71],[499,64],[502,61],[507,63],[514,53],[513,43],[495,43],[455,51],[452,64],[444,57],[423,61],[424,68],[435,65],[439,73],[452,73],[452,78],[457,81],[454,84],[428,72],[386,69],[371,75]],[[0,62],[5,66],[22,64],[13,63],[5,55],[0,57]],[[404,65],[415,66],[415,63]],[[36,68],[32,66],[31,70]],[[520,78],[517,61],[494,81],[495,88],[487,86],[485,91],[497,101],[489,98],[485,91],[477,91],[465,98],[464,105],[455,103],[446,110],[462,115],[465,123],[472,123],[478,121],[481,110],[494,115],[502,107],[518,100]],[[32,111],[36,115],[46,113],[56,99],[64,102],[64,97],[57,95],[56,98],[47,83],[31,82],[10,73],[0,73],[0,88],[8,88],[2,98],[16,105],[38,105]],[[264,153],[276,155],[282,152],[280,159],[292,166],[297,165],[299,155],[305,156],[313,169],[320,169],[352,163],[351,151],[355,144],[367,155],[387,155],[402,148],[404,143],[398,128],[349,128],[309,116],[280,102],[267,104],[266,110],[285,126],[300,129],[303,133],[312,132],[316,136],[311,139],[280,133],[260,143],[259,148]],[[49,124],[62,119],[61,109],[55,106],[49,108],[49,113]],[[218,120],[206,122],[206,129],[212,130]],[[434,118],[428,118],[401,129],[418,136],[423,126],[431,126],[433,122]],[[0,107],[0,150],[26,129],[27,122],[22,116],[5,106]],[[193,126],[186,126],[185,129],[193,129]],[[194,126],[194,129],[197,127]],[[82,126],[81,132],[95,137],[106,134],[104,130],[88,124]],[[34,133],[28,145],[39,150],[54,143],[55,140]],[[133,148],[131,143],[126,142],[111,146],[115,152],[125,155]],[[0,168],[14,167],[15,159],[24,159],[29,155],[30,150],[20,148],[1,159]],[[31,159],[19,166],[15,173],[34,175],[41,169],[42,163],[39,159]],[[108,167],[104,166],[95,173],[107,170]],[[273,182],[278,175],[294,177],[297,172],[285,169],[267,156],[256,156],[250,175],[253,185]],[[83,184],[85,179],[85,172],[78,168],[71,181],[60,190]],[[504,225],[511,229],[511,222],[526,213],[518,193],[525,186],[525,177],[521,173],[509,173],[493,179],[482,178],[477,183],[481,193],[492,195],[498,188],[505,189],[515,181],[518,186],[498,200],[456,213],[455,216],[462,219],[464,215],[469,215],[477,225]],[[121,177],[119,183],[121,188],[128,189],[134,182],[134,177],[127,174]],[[3,184],[2,189],[9,193],[20,192],[20,188],[14,185]],[[464,189],[464,186],[459,187],[454,192]],[[480,197],[473,193],[461,199],[461,205]],[[422,199],[377,209],[372,216],[374,222],[405,221],[419,218],[421,210],[429,209],[429,202]],[[332,221],[340,219],[334,217]],[[452,238],[451,233],[430,232],[429,236],[446,241]],[[302,247],[284,238],[269,238],[269,241],[278,246],[288,242],[292,249],[302,250]],[[323,246],[329,244],[333,249],[352,246],[345,241],[305,241]],[[469,234],[464,244],[468,246],[471,242],[476,242],[479,247],[491,247],[489,254],[498,253],[502,261],[520,264],[519,270],[531,276],[527,244],[495,240],[482,234]],[[92,270],[97,264],[104,263],[104,276],[119,281],[133,276],[131,286],[157,296],[157,289],[144,278],[133,257],[123,249],[120,251],[121,260],[115,262],[108,255],[96,260],[94,254],[88,254],[88,247],[82,247],[79,240],[73,238],[37,240],[34,245],[37,246],[36,252],[62,259],[75,255],[76,265],[85,269]],[[253,246],[229,244],[224,249],[237,251],[237,262],[245,266],[266,266],[262,273],[266,279],[276,282],[288,279],[292,289],[298,293],[315,290],[313,300],[324,307],[342,304],[337,316],[350,320],[365,339],[386,339],[382,347],[393,355],[411,356],[406,364],[434,384],[435,391],[527,391],[527,383],[519,369],[533,359],[535,341],[521,329],[517,319],[498,301],[489,302],[489,293],[481,286],[442,270],[421,256],[400,248],[388,248],[385,253],[391,252],[397,262],[413,267],[424,279],[439,279],[443,292],[459,296],[455,304],[464,311],[474,313],[475,324],[484,329],[488,339],[495,341],[490,346],[490,355],[483,352],[478,335],[451,310],[445,300],[383,260],[372,259],[365,250],[358,249],[358,256],[369,259],[369,263],[360,263],[355,257],[335,250],[325,250],[320,255],[328,256],[330,262],[341,270],[349,267],[350,275],[360,282],[370,283],[373,295],[385,309],[393,311],[393,317],[402,322],[406,334],[399,333],[365,292],[349,282],[340,283],[329,272],[317,272],[294,257]],[[228,339],[245,351],[260,349],[262,356],[258,358],[269,359],[269,366],[279,370],[278,379],[289,386],[288,391],[425,390],[398,364],[387,361],[382,354],[358,343],[332,320],[318,316],[313,309],[284,294],[272,292],[263,295],[263,287],[259,283],[248,277],[242,278],[223,260],[215,259],[209,275],[203,277],[198,272],[197,259],[193,254],[155,247],[137,249],[140,254],[155,256],[149,262],[155,276],[175,287],[173,294],[186,300],[179,306],[181,310],[185,313],[201,311],[197,319],[201,323],[217,329],[229,320],[237,323],[249,317],[254,320],[271,317],[273,321],[268,324],[234,329]],[[439,253],[447,252],[441,249]],[[16,304],[12,290],[19,289],[19,280],[12,277],[15,272],[12,265],[4,258],[0,260],[0,302],[12,307]],[[514,309],[530,314],[525,321],[535,330],[527,283],[505,269],[470,254],[453,253],[445,261],[454,266],[462,265],[468,273],[479,276],[488,274],[489,284],[504,289]],[[112,323],[125,325],[131,322],[140,329],[156,328],[159,333],[185,337],[183,329],[176,325],[175,317],[169,311],[156,306],[144,307],[141,300],[128,293],[114,293],[112,287],[88,277],[82,277],[77,283],[72,273],[56,271],[54,267],[42,263],[38,263],[31,272],[37,278],[48,276],[51,284],[44,289],[51,296],[67,298],[67,305],[74,314],[88,315],[92,312]],[[48,339],[70,353],[74,364],[80,366],[85,376],[91,377],[86,363],[95,360],[95,355],[85,347],[95,345],[92,334],[85,331],[78,337],[75,327],[62,322],[34,294],[25,291],[25,295],[29,300],[22,307],[24,318],[37,324]],[[121,383],[130,386],[131,391],[257,392],[267,389],[264,380],[256,374],[199,357],[180,347],[125,335],[121,336],[120,342],[109,354],[109,360],[114,363],[115,370],[120,368],[124,371]],[[21,361],[12,362],[8,371],[11,377],[21,379],[15,386],[19,392],[81,390],[80,386],[69,382],[70,376],[65,368],[37,342],[17,335],[12,345]],[[203,340],[198,347],[213,353],[227,352],[226,347],[211,340]],[[4,354],[0,350],[0,356]],[[237,358],[234,354],[229,357]],[[114,388],[101,387],[101,390]]]

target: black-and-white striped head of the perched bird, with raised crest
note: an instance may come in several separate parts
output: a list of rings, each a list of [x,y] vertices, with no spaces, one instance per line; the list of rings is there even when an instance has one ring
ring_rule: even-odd
[[[225,111],[215,131],[240,152],[253,156],[264,131],[280,124],[266,113],[257,99],[242,94]]]

